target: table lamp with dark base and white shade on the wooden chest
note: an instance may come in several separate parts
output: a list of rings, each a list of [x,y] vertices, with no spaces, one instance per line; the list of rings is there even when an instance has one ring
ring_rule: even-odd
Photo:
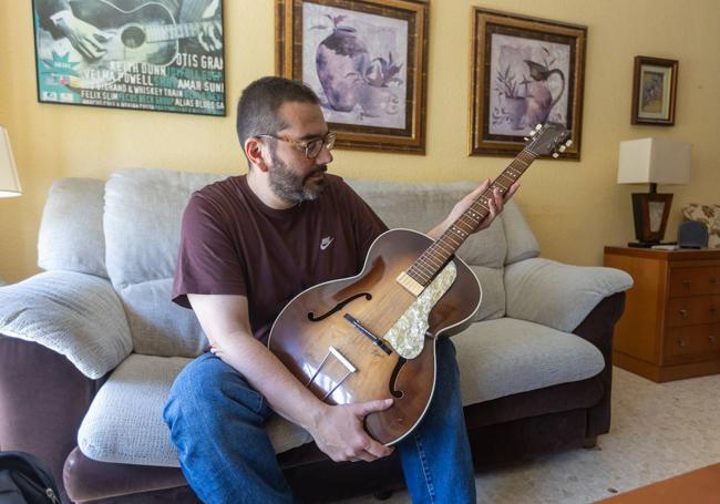
[[[690,182],[688,142],[667,138],[639,138],[620,142],[618,184],[649,184],[648,193],[632,193],[632,217],[637,243],[630,247],[651,247],[665,236],[672,194],[659,194],[658,184]]]

